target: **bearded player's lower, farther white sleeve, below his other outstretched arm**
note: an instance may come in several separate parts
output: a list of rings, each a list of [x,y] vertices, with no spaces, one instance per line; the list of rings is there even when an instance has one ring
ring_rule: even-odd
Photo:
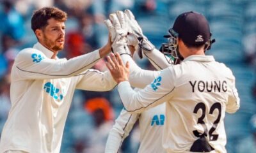
[[[115,80],[109,71],[100,72],[97,69],[88,69],[77,75],[77,89],[86,91],[111,91],[116,86]]]

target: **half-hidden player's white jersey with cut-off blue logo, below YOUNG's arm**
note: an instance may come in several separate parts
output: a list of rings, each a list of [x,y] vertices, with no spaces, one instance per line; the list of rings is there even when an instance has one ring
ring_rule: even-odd
[[[165,120],[165,103],[142,113],[129,113],[125,109],[115,121],[106,143],[105,153],[117,153],[124,139],[129,135],[136,121],[140,126],[139,153],[164,153],[162,135]]]

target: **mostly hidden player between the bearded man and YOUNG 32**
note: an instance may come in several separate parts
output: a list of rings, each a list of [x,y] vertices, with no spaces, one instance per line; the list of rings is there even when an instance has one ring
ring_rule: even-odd
[[[127,11],[128,13],[129,11]],[[132,15],[132,13],[129,13]],[[110,15],[111,18],[117,18],[115,14]],[[136,20],[129,20],[130,25],[136,25],[139,27]],[[106,25],[108,29],[111,31],[111,21],[106,20]],[[139,27],[140,28],[140,27]],[[139,29],[138,29],[139,30]],[[144,39],[144,42],[139,42],[133,36],[129,36],[128,38],[128,45],[131,49],[132,54],[138,52],[139,57],[142,58],[143,55],[148,58],[151,64],[158,70],[167,68],[171,64],[174,64],[172,58],[164,56],[164,54],[160,54],[160,51],[157,50],[150,41],[148,41],[147,37],[142,34],[142,30],[139,30],[141,36]],[[133,45],[133,44],[136,45]],[[139,45],[140,44],[140,45]],[[133,45],[131,47],[130,45]],[[166,46],[163,43],[161,48]],[[161,49],[160,49],[161,50]],[[161,50],[162,51],[162,50]],[[172,57],[172,56],[171,56]],[[135,89],[135,91],[139,91],[140,89]],[[121,111],[118,118],[115,120],[115,125],[109,132],[108,140],[106,143],[105,152],[106,153],[113,153],[113,152],[120,152],[120,147],[122,146],[122,142],[124,139],[129,135],[131,129],[133,128],[134,124],[139,121],[140,127],[140,147],[138,152],[166,152],[162,147],[162,135],[163,135],[163,126],[165,120],[165,103],[158,105],[154,108],[150,108],[145,112],[141,113],[129,113],[125,108]]]

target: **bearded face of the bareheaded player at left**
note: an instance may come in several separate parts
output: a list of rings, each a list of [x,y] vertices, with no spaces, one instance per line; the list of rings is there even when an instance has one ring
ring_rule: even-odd
[[[63,49],[65,43],[65,24],[64,22],[50,18],[48,25],[40,30],[41,35],[38,36],[39,42],[53,52]]]

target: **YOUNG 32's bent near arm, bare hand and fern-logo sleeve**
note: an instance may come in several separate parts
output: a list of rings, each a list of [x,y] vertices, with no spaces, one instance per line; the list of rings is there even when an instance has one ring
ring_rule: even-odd
[[[124,66],[120,55],[115,55],[112,55],[111,58],[108,57],[107,67],[118,83],[118,92],[127,112],[140,113],[172,97],[175,87],[170,81],[173,78],[169,68],[160,71],[159,76],[151,84],[141,91],[135,92],[128,82],[129,62]]]

